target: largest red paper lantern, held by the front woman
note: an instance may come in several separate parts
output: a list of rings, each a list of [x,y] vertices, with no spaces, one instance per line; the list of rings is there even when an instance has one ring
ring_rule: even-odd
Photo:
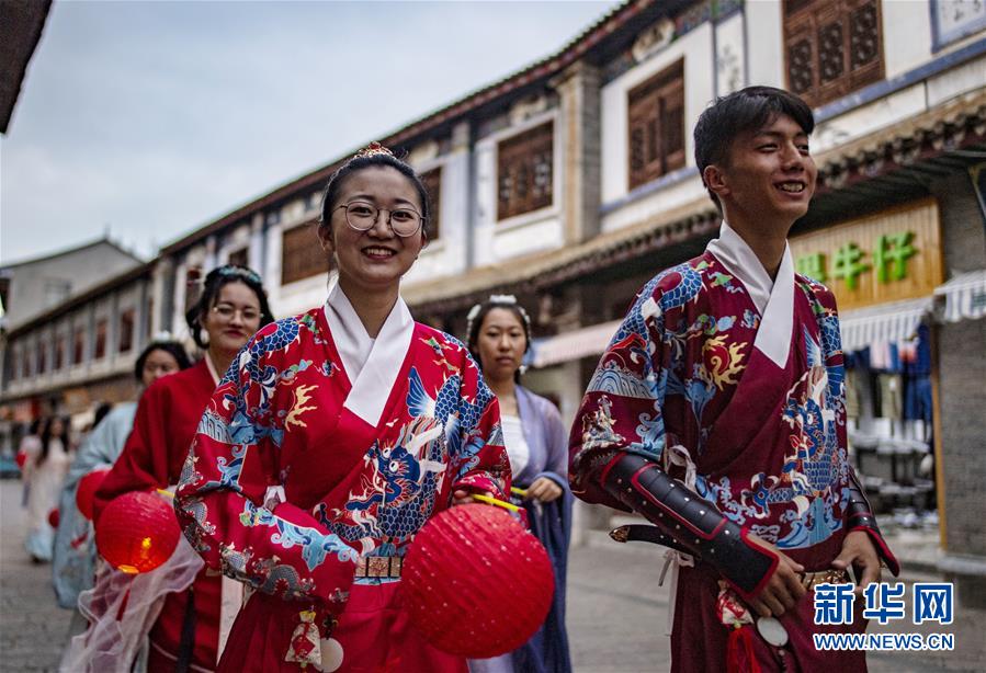
[[[552,562],[498,507],[445,510],[415,537],[400,590],[411,621],[440,650],[469,659],[513,651],[544,623],[555,591]]]

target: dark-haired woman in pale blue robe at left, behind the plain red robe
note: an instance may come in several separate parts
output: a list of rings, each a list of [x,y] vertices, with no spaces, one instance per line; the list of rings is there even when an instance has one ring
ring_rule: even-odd
[[[191,365],[184,346],[170,339],[158,339],[137,356],[134,377],[139,389],[144,390],[160,377],[188,369]],[[76,459],[65,478],[58,505],[58,528],[55,531],[55,556],[52,559],[52,582],[61,607],[77,607],[79,593],[92,586],[95,569],[92,523],[76,504],[79,480],[116,461],[134,427],[136,413],[136,401],[113,407],[79,445]]]

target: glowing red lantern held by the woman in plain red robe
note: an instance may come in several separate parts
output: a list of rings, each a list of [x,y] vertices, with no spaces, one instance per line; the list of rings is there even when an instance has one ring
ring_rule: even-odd
[[[171,557],[180,536],[170,502],[155,493],[131,491],[103,510],[95,548],[117,570],[147,572]]]

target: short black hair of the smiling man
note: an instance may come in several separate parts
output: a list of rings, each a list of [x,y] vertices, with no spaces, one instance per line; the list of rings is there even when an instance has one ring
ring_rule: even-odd
[[[740,134],[756,133],[782,114],[794,119],[805,134],[812,135],[815,130],[815,115],[808,104],[783,89],[747,87],[717,98],[695,124],[699,174],[713,163],[728,166],[729,149]],[[705,181],[704,176],[702,181]],[[718,197],[711,190],[709,195],[719,206]]]

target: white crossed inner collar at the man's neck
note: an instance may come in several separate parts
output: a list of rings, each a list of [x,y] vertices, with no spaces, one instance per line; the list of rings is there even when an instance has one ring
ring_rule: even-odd
[[[719,237],[710,241],[706,250],[743,283],[760,313],[760,328],[753,347],[779,367],[784,367],[794,329],[794,262],[791,247],[784,243],[781,266],[773,281],[757,253],[726,220],[723,220]]]

